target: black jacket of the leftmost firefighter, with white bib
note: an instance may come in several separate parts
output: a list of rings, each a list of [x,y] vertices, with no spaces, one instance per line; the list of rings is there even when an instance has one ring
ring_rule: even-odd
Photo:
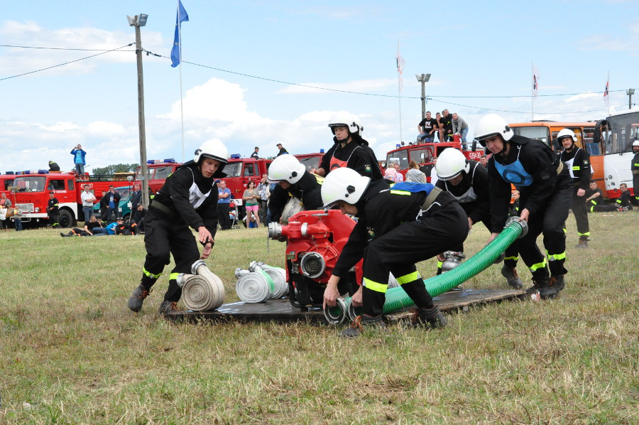
[[[217,230],[218,195],[214,182],[216,178],[225,176],[221,168],[218,168],[212,177],[204,178],[197,164],[187,161],[166,178],[162,188],[155,194],[153,203],[158,202],[168,208],[173,216],[169,217],[171,221],[183,222],[196,232],[200,226],[204,226],[211,234],[214,234]],[[195,208],[191,200],[206,193],[209,195],[200,206]],[[157,210],[153,208],[153,203],[151,203],[151,210]]]

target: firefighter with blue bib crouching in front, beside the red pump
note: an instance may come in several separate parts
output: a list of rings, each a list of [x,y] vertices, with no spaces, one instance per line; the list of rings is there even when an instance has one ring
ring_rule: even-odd
[[[445,326],[446,319],[433,304],[415,263],[466,240],[468,217],[457,200],[430,183],[396,183],[389,188],[387,181],[371,181],[350,168],[339,168],[327,176],[322,200],[324,208],[339,208],[342,214],[359,218],[324,291],[324,308],[334,306],[340,296],[339,280],[364,258],[363,287],[353,297],[364,314],[342,335],[354,338],[366,326],[384,327],[389,273],[417,306],[414,326]]]

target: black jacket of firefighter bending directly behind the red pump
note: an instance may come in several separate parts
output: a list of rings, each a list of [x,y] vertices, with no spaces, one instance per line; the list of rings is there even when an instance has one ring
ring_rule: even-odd
[[[294,185],[290,185],[288,189],[283,189],[280,185],[275,185],[275,189],[271,192],[271,198],[268,199],[268,209],[271,210],[271,221],[279,222],[282,212],[290,196],[302,200],[305,210],[321,210],[324,207],[322,203],[322,185],[317,183],[315,175],[304,172],[304,176]]]

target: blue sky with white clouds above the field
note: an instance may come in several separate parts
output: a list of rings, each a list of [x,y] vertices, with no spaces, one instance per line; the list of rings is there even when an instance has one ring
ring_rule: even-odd
[[[638,1],[183,4],[182,59],[195,64],[180,65],[187,159],[209,139],[244,156],[253,146],[274,155],[279,142],[292,153],[328,149],[327,123],[338,111],[360,117],[383,158],[400,129],[403,140],[415,139],[421,73],[432,75],[427,109],[457,112],[469,136],[495,110],[508,122],[528,121],[533,110],[534,119],[603,118],[608,72],[611,112],[628,107],[626,89],[639,88]],[[143,48],[164,56],[143,56],[147,155],[182,160],[180,70],[168,58],[176,9],[173,0],[3,2],[0,44],[43,49],[0,47],[0,172],[50,159],[70,170],[78,143],[88,170],[139,161],[136,57],[134,45],[121,48],[135,41],[126,15],[139,13],[149,16]],[[540,70],[534,102],[532,63]]]

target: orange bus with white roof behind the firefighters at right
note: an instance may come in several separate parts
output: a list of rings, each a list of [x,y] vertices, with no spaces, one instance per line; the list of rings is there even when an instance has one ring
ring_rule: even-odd
[[[570,129],[577,136],[577,146],[584,149],[590,154],[590,164],[593,169],[592,179],[596,181],[597,187],[606,195],[606,183],[604,180],[603,166],[603,141],[601,141],[601,133],[596,130],[599,123],[589,122],[555,122],[555,121],[531,121],[517,122],[508,124],[511,129],[519,136],[528,137],[528,139],[537,139],[550,146],[554,151],[563,149],[562,145],[557,141],[557,133],[562,129]],[[630,161],[630,160],[628,160]]]

